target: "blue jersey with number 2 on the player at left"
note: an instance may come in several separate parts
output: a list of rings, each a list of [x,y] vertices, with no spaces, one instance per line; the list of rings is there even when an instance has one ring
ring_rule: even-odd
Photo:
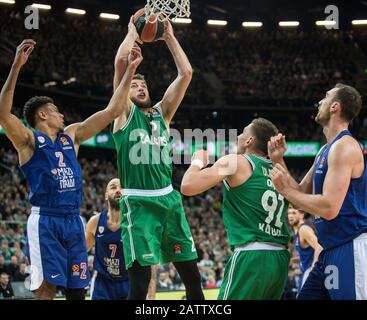
[[[34,138],[34,154],[20,167],[30,188],[30,203],[40,214],[79,214],[82,173],[72,139],[60,133],[53,142],[38,131]]]

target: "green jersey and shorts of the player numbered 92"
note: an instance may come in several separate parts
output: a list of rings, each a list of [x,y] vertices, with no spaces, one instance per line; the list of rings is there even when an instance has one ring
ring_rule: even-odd
[[[234,250],[220,300],[280,299],[288,277],[288,202],[269,178],[271,161],[246,154],[251,177],[230,188],[224,181],[223,220]]]

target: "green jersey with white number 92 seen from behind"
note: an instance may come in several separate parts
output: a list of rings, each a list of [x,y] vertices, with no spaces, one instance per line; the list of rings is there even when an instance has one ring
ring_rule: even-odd
[[[252,154],[244,156],[251,163],[251,177],[234,188],[224,181],[223,221],[229,244],[287,245],[290,239],[286,224],[288,202],[275,190],[269,177],[271,161]]]

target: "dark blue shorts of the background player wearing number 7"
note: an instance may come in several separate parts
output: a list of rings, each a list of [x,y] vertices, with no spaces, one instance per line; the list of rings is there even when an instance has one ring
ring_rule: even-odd
[[[129,280],[110,280],[98,272],[91,285],[92,300],[126,300],[129,294]]]

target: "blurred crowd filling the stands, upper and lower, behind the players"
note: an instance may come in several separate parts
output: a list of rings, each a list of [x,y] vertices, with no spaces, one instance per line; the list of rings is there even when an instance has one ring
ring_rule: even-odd
[[[228,31],[195,26],[174,26],[174,29],[194,68],[193,81],[185,98],[187,105],[309,107],[322,99],[325,91],[337,82],[354,85],[363,95],[367,89],[367,31],[364,29],[307,32]],[[9,71],[15,46],[31,37],[37,41],[37,48],[22,72],[22,82],[42,87],[54,81],[58,88],[70,93],[109,97],[114,55],[126,32],[126,26],[119,22],[44,12],[41,12],[39,30],[25,30],[23,13],[2,8],[0,78],[6,77]],[[175,65],[162,42],[144,45],[143,55],[139,72],[146,74],[152,98],[157,100],[174,79]],[[71,78],[76,81],[65,82]],[[95,112],[93,108],[72,108],[79,101],[64,99],[61,110],[66,124]],[[13,111],[21,117],[19,106]],[[263,116],[272,120],[288,141],[321,142],[323,134],[313,121],[314,115],[296,111],[248,112],[221,108],[188,112],[181,108],[172,128],[181,132],[185,128],[243,130],[253,117]],[[367,139],[365,114],[354,122],[353,133],[359,139]],[[117,171],[114,159],[84,157],[80,163],[84,179],[81,215],[86,223],[106,207],[105,187],[117,176]],[[302,169],[295,172],[298,178],[302,177]],[[183,172],[183,167],[175,168],[175,187],[179,186]],[[0,148],[0,185],[1,298],[14,295],[11,282],[24,281],[28,265],[25,255],[26,222],[30,211],[28,188],[12,149]],[[199,256],[203,288],[221,285],[224,267],[231,255],[221,217],[221,196],[221,186],[218,186],[200,197],[184,198]],[[299,281],[300,270],[293,243],[290,251],[289,286],[292,291]],[[93,255],[89,257],[89,270],[93,272]],[[158,290],[183,289],[173,265],[159,266],[157,272]]]

